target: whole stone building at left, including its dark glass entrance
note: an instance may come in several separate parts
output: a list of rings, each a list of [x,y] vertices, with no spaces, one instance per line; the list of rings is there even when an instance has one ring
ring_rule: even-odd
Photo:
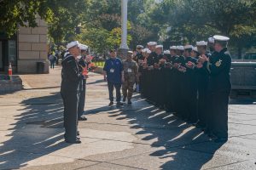
[[[38,62],[44,63],[44,73],[49,73],[47,25],[37,19],[38,27],[20,27],[13,37],[0,34],[0,71],[6,72],[9,63],[18,73],[36,73]],[[42,64],[41,64],[42,65]]]

